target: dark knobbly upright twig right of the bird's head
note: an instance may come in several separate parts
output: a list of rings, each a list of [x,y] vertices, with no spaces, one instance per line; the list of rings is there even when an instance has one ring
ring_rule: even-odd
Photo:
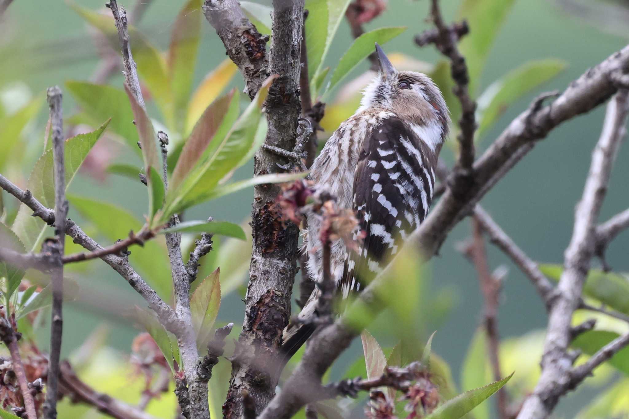
[[[427,42],[434,43],[443,55],[450,58],[452,80],[456,84],[453,92],[459,98],[462,111],[459,119],[461,131],[459,136],[457,136],[459,140],[459,161],[454,169],[454,175],[469,178],[472,176],[472,164],[474,163],[474,131],[476,131],[474,112],[476,112],[476,101],[470,97],[467,65],[465,65],[465,58],[457,48],[457,41],[469,31],[469,28],[467,28],[467,23],[465,22],[453,24],[452,27],[447,26],[443,21],[439,0],[432,0],[430,17],[437,28],[437,33],[434,30],[428,31],[428,33],[416,36],[415,41],[419,46],[426,45],[425,43]],[[457,183],[461,182],[463,180],[459,179]]]

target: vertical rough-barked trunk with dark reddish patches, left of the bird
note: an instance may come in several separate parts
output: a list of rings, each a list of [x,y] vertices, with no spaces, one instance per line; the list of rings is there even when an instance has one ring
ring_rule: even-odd
[[[270,73],[273,82],[265,102],[269,131],[265,144],[292,150],[297,135],[299,58],[304,0],[274,0]],[[246,77],[245,77],[246,79]],[[254,175],[281,170],[286,158],[263,149],[255,155]],[[276,209],[277,185],[262,185],[253,193],[253,248],[250,280],[245,297],[245,320],[233,356],[230,388],[223,415],[240,419],[242,391],[255,400],[255,411],[264,409],[275,395],[274,360],[282,343],[282,330],[291,315],[292,284],[296,273],[298,228],[282,222]]]

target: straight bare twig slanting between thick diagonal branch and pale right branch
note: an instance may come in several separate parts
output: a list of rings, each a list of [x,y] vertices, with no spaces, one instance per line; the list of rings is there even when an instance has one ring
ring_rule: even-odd
[[[482,209],[481,205],[476,205],[474,216],[481,224],[482,229],[487,232],[491,242],[503,251],[504,254],[509,256],[513,263],[531,280],[537,292],[540,294],[540,297],[542,297],[543,302],[548,307],[554,287],[552,283],[550,283],[550,280],[540,271],[538,264],[535,263],[533,259],[526,256],[526,253],[524,253],[522,249],[518,248],[518,245],[515,244],[515,242],[511,240],[511,237],[507,236],[491,216]]]

